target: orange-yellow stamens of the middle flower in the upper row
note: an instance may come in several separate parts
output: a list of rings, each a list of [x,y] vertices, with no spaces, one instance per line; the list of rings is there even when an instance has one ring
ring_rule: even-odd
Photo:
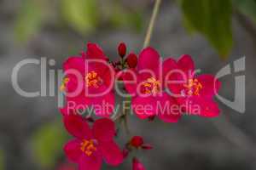
[[[158,94],[160,92],[160,81],[154,77],[150,77],[147,81],[143,82],[144,94]]]

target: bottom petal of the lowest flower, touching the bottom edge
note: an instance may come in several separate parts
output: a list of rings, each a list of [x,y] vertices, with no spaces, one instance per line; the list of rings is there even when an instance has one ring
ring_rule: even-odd
[[[91,156],[82,156],[79,161],[79,170],[100,170],[102,168],[102,156],[99,152]]]

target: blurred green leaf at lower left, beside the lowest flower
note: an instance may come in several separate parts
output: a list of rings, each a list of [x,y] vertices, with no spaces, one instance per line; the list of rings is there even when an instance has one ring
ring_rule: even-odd
[[[63,153],[63,144],[67,141],[61,122],[45,124],[32,137],[35,157],[44,168],[55,166],[55,162]]]

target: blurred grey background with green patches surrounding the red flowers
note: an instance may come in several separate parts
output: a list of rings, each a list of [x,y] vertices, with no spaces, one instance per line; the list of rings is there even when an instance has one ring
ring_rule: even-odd
[[[177,124],[164,124],[132,116],[131,133],[154,144],[154,150],[139,153],[148,170],[256,168],[256,29],[255,18],[248,17],[256,13],[256,4],[244,2],[250,5],[233,9],[234,45],[222,59],[207,36],[186,31],[178,3],[163,0],[151,45],[163,57],[191,54],[197,68],[212,74],[246,56],[246,71],[241,73],[246,74],[246,112],[239,114],[219,102],[222,116],[211,120],[183,116]],[[14,66],[22,59],[47,57],[56,61],[49,69],[57,71],[67,56],[78,54],[89,41],[99,43],[110,59],[117,59],[119,42],[138,53],[153,5],[149,0],[0,0],[0,169],[58,169],[66,162],[62,145],[70,138],[62,127],[56,97],[24,98],[15,92]],[[221,14],[214,17],[222,20]],[[235,76],[221,79],[220,94],[228,99],[234,96]],[[19,83],[28,91],[38,90],[39,66],[23,67]],[[129,137],[123,132],[119,140],[124,143]],[[131,160],[113,169],[131,169]]]

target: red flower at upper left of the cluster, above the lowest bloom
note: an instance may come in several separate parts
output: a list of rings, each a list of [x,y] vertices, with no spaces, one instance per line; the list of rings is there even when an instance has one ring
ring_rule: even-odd
[[[64,62],[66,76],[61,90],[65,91],[67,102],[84,105],[85,108],[92,105],[97,116],[109,116],[113,112],[114,73],[107,60],[100,47],[88,43],[87,51],[82,53],[82,57],[69,57]],[[74,92],[77,93],[71,95]]]

